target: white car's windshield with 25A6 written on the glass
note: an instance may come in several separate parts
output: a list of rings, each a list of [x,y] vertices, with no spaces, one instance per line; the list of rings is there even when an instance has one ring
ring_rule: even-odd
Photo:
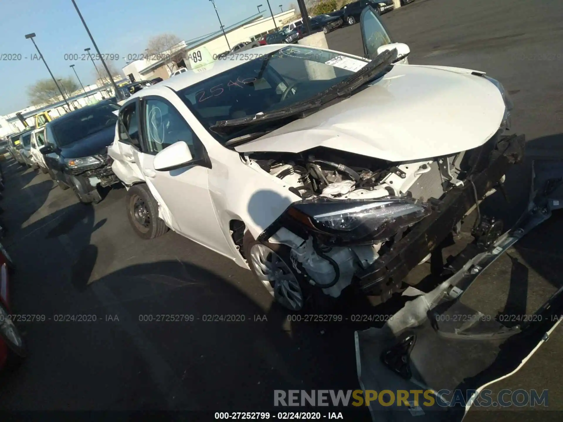
[[[365,65],[366,61],[346,55],[288,46],[182,89],[178,95],[209,130],[219,120],[269,113],[307,100]],[[239,136],[210,133],[222,143]]]

